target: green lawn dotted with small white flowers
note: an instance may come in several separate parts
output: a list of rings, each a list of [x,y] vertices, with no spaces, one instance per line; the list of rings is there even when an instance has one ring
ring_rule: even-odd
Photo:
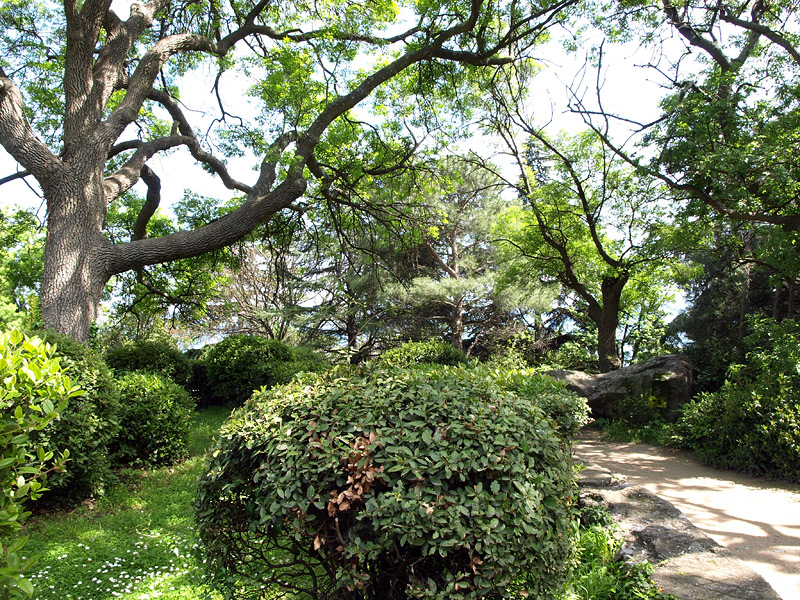
[[[127,470],[96,503],[31,518],[23,553],[37,600],[209,598],[192,504],[204,454],[229,410],[195,414],[189,458],[174,467]]]

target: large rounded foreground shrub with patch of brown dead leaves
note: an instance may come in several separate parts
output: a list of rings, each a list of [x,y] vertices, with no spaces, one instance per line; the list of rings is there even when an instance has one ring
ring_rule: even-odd
[[[568,450],[473,369],[335,369],[223,428],[197,522],[228,597],[552,598],[574,544]]]

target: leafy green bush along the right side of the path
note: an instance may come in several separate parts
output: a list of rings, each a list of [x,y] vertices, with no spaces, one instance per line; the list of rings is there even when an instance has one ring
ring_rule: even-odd
[[[684,406],[676,444],[717,467],[800,481],[800,323],[757,321],[718,392]]]

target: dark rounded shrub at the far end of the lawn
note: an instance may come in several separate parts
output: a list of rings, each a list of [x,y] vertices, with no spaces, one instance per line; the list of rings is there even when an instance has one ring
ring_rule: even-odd
[[[232,335],[203,355],[211,394],[234,406],[241,405],[253,390],[275,385],[280,366],[291,360],[289,346],[255,335]]]

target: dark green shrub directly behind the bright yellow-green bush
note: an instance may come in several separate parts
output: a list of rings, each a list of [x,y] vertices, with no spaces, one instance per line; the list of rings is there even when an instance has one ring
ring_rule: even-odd
[[[45,499],[79,502],[101,493],[104,484],[113,480],[109,447],[119,431],[116,383],[94,350],[52,331],[38,335],[56,346],[62,369],[86,391],[71,398],[60,419],[43,429],[38,438],[51,450],[69,450],[70,455],[67,471],[50,478],[51,493]]]

